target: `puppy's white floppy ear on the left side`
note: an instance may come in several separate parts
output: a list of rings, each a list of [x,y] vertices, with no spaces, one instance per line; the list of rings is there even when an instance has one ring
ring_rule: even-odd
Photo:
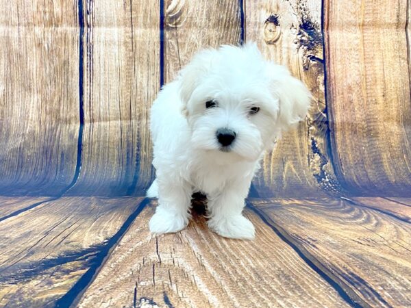
[[[188,101],[190,101],[192,92],[197,88],[202,77],[210,70],[214,52],[212,49],[199,51],[179,72],[179,95],[184,105],[183,114],[186,116],[188,115]]]

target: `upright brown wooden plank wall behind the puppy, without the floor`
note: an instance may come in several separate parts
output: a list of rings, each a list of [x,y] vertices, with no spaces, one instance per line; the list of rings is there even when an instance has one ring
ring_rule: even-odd
[[[253,40],[314,95],[306,122],[264,157],[253,192],[408,196],[410,8],[380,4],[3,5],[0,192],[141,196],[153,179],[147,123],[160,85],[201,47]]]

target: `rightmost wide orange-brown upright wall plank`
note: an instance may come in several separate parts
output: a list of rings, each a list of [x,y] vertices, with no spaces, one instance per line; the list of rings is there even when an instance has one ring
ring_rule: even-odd
[[[411,194],[407,1],[325,1],[332,151],[346,188]]]

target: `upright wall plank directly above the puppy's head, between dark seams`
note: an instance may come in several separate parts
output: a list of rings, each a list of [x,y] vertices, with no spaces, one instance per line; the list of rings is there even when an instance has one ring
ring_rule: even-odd
[[[240,42],[238,1],[163,1],[165,82],[172,81],[201,48]]]

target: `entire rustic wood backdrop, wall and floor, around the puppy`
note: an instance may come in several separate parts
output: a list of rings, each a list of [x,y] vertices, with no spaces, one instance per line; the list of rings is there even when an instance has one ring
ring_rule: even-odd
[[[0,0],[0,307],[410,307],[411,0]],[[314,95],[255,242],[149,235],[149,108],[256,41]],[[147,306],[147,307],[151,307]]]

